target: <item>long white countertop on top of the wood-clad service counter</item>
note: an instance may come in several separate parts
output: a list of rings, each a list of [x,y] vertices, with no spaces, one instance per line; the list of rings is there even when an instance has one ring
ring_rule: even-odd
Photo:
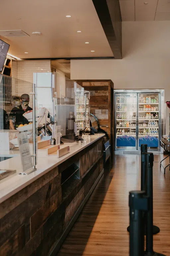
[[[16,170],[16,173],[4,178],[0,181],[0,203],[28,186],[30,183],[40,178],[42,175],[52,170],[71,156],[77,154],[82,149],[88,147],[98,139],[102,138],[105,134],[95,134],[95,135],[84,135],[84,141],[80,144],[74,142],[72,144],[64,144],[63,146],[69,145],[70,152],[60,158],[56,158],[55,155],[47,155],[45,149],[38,150],[38,164],[36,170],[28,175],[19,175],[22,172],[21,158],[18,149],[2,151],[0,150],[0,157],[11,157],[10,159],[0,162],[1,170]],[[63,147],[62,145],[60,148]]]

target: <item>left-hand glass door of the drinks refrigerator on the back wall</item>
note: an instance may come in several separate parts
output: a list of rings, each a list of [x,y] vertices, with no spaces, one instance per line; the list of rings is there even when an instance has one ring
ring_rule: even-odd
[[[137,93],[116,93],[116,148],[137,149]]]

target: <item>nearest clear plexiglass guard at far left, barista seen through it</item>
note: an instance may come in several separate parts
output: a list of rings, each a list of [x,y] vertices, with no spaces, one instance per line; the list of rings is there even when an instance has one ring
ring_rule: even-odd
[[[37,164],[37,129],[34,116],[37,116],[34,85],[0,74],[0,136],[2,141],[0,144],[0,154],[11,155],[12,157],[12,155],[17,155],[17,152],[20,150],[23,171],[32,169],[33,166],[35,168]],[[34,143],[29,144],[29,139]],[[23,153],[23,147],[19,147],[19,142],[21,142],[22,146],[23,142],[26,143],[30,153],[28,151]],[[13,153],[10,153],[10,150]],[[33,156],[33,163],[28,163],[26,158],[24,158],[24,154],[27,156],[31,154]],[[2,160],[4,159],[0,156],[0,161]]]

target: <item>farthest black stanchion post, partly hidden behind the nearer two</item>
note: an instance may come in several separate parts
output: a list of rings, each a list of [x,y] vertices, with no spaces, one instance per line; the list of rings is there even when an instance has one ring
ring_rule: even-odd
[[[147,182],[147,173],[146,173],[146,157],[145,157],[145,153],[147,153],[147,144],[141,144],[140,146],[140,153],[141,153],[141,180],[140,180],[140,189],[142,190],[146,190],[146,182]],[[144,226],[146,225],[146,215],[144,214]],[[128,232],[130,232],[130,226],[128,226],[127,228]],[[157,234],[160,232],[160,229],[153,225],[153,234]]]

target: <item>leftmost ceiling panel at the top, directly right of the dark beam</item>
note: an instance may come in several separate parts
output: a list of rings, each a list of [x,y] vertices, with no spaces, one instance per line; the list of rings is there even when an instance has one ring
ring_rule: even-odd
[[[134,21],[134,0],[120,0],[122,21]]]

